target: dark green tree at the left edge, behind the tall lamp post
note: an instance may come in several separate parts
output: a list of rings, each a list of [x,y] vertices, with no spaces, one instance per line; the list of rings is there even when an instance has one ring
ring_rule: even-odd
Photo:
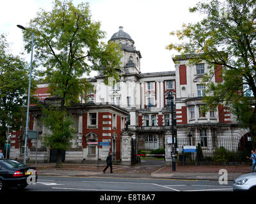
[[[6,36],[0,36],[0,147],[3,148],[8,126],[20,131],[26,121],[29,66],[10,53]],[[31,90],[35,82],[31,80]]]

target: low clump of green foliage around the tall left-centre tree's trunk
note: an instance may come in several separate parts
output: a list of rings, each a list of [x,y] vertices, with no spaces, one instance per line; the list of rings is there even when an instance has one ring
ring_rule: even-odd
[[[67,150],[74,138],[75,130],[72,128],[73,119],[67,115],[67,112],[56,109],[43,108],[45,117],[42,117],[42,123],[49,128],[51,135],[45,135],[44,145],[51,149]]]

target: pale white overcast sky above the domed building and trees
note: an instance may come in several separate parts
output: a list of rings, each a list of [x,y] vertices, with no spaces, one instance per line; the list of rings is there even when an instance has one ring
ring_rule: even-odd
[[[101,22],[101,29],[106,32],[106,42],[118,32],[118,27],[123,26],[124,31],[134,40],[136,50],[141,52],[141,72],[148,73],[174,70],[172,57],[178,53],[166,50],[166,46],[179,41],[170,36],[170,32],[182,29],[182,24],[200,20],[199,14],[189,13],[189,8],[198,1],[73,0],[73,3],[89,3],[92,19]],[[13,54],[30,62],[30,54],[20,54],[24,51],[24,43],[22,31],[17,25],[28,26],[40,8],[51,11],[52,2],[53,0],[1,0],[0,34],[6,34]]]

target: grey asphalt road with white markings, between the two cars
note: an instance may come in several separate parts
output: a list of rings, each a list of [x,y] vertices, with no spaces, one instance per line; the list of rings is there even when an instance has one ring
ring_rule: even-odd
[[[232,182],[220,185],[213,180],[39,176],[36,184],[23,191],[232,191]]]

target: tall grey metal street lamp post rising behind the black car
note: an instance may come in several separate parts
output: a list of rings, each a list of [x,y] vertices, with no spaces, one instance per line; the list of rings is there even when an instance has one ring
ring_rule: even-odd
[[[22,25],[17,25],[17,27],[19,27],[20,29],[22,29],[24,31],[28,31]],[[27,151],[27,140],[28,140],[28,119],[29,119],[29,100],[30,100],[31,72],[32,72],[32,62],[33,62],[33,47],[34,47],[34,33],[32,33],[32,32],[29,32],[29,33],[32,34],[32,45],[31,45],[30,70],[29,70],[28,106],[27,106],[26,133],[25,133],[25,146],[24,146],[25,147],[24,148],[24,160],[23,160],[24,164],[26,164],[26,151]]]

